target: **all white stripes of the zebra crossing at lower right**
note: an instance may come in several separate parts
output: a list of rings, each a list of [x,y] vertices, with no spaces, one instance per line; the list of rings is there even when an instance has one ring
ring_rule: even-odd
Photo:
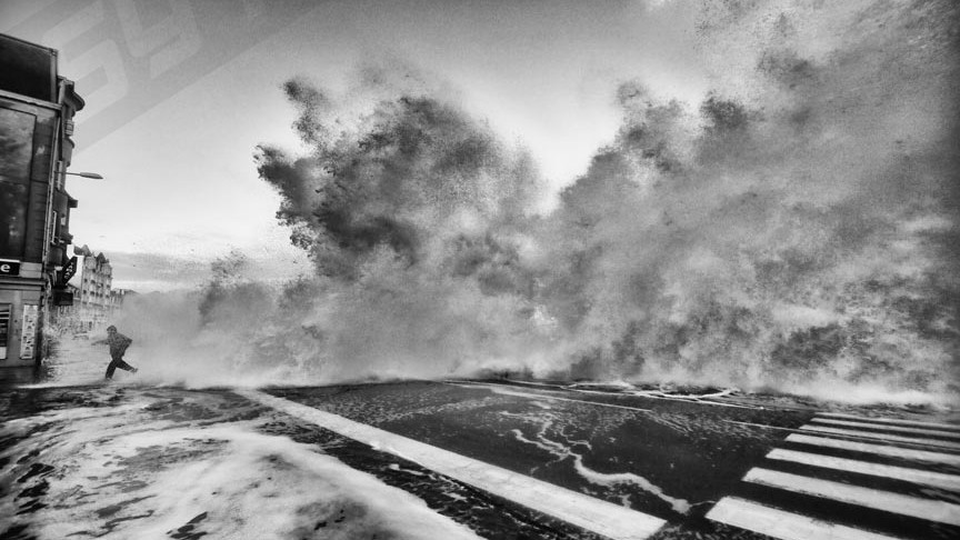
[[[881,431],[866,431],[863,428]],[[908,434],[940,438],[960,437],[958,432],[948,431],[953,428],[956,427],[933,422],[823,413],[811,420],[811,423],[801,427],[800,430],[802,432],[791,433],[786,439],[787,442],[804,444],[804,448],[810,448],[810,451],[776,448],[767,454],[767,459],[908,481],[949,491],[960,491],[960,474],[914,469],[910,467],[910,463],[901,467],[816,453],[818,448],[830,448],[862,454],[898,458],[917,462],[918,464],[923,462],[960,467],[960,454],[949,453],[948,450],[960,449],[960,444],[942,439],[908,437]],[[831,434],[840,437],[833,438],[830,437]],[[858,438],[861,440],[849,440],[847,438]],[[872,439],[872,441],[864,441],[862,439]],[[901,446],[893,446],[897,443]],[[902,448],[903,443],[926,446],[927,448]],[[869,458],[869,456],[864,456],[864,458]],[[922,496],[884,491],[763,468],[751,469],[743,477],[743,481],[803,496],[857,504],[882,512],[922,519],[929,522],[960,527],[960,504],[951,501],[927,499]],[[920,491],[920,493],[923,492]],[[856,529],[801,513],[794,513],[789,511],[790,503],[778,503],[778,506],[784,506],[787,509],[771,508],[763,504],[762,501],[754,502],[737,497],[726,497],[707,512],[707,518],[781,540],[803,540],[809,538],[880,540],[893,538],[878,532]]]

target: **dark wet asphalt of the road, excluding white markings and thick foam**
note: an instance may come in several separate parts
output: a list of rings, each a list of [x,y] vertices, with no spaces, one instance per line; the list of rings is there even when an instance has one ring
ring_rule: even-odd
[[[760,468],[897,493],[930,501],[930,506],[942,503],[949,512],[952,506],[960,503],[958,492],[950,489],[952,484],[947,489],[931,488],[897,478],[829,469],[819,463],[800,464],[767,458],[774,449],[816,450],[819,456],[907,466],[911,470],[950,478],[960,474],[960,468],[949,460],[917,462],[909,457],[867,456],[843,448],[814,449],[808,443],[787,440],[793,433],[804,433],[811,422],[822,422],[818,414],[829,410],[901,422],[956,424],[956,418],[949,416],[884,408],[830,408],[782,397],[710,391],[628,394],[618,389],[572,389],[516,381],[417,381],[273,388],[268,392],[666,520],[667,524],[651,537],[654,539],[768,538],[724,524],[722,520],[708,519],[708,512],[724,498],[756,501],[822,522],[892,538],[960,538],[960,528],[949,522],[949,518],[944,522],[906,516],[862,502],[742,480],[751,470]],[[263,433],[314,444],[354,469],[420,497],[434,511],[467,524],[484,538],[600,538],[554,517],[452,480],[428,466],[398,458],[310,422],[277,414],[226,389],[8,386],[0,398],[0,418],[6,422],[49,410],[119,407],[144,396],[163,403],[151,413],[183,422],[218,423],[260,418],[263,421],[257,429]],[[868,426],[862,428],[863,433],[876,432],[880,438],[891,433],[883,426]],[[923,437],[934,443],[942,442],[943,446],[936,448],[937,454],[960,458],[960,449],[951,447],[956,438],[949,429],[941,431],[947,434]],[[864,437],[862,433],[837,436],[837,440],[867,440]],[[4,439],[0,441],[0,451],[16,443],[17,440]],[[918,448],[917,443],[904,441],[883,444],[908,451]],[[36,489],[38,484],[33,480],[41,476],[44,466],[50,466],[33,462],[29,456],[11,456],[0,464],[7,477],[3,486],[26,493],[18,496],[24,514],[42,513],[44,498],[50,493]],[[30,489],[34,491],[29,492]],[[3,538],[32,538],[29,529],[16,529],[14,524],[6,528]]]

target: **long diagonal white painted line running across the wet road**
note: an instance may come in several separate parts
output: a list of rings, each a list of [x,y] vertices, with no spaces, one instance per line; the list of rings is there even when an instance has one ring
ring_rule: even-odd
[[[494,496],[611,539],[641,540],[666,521],[389,431],[253,390],[237,393]]]

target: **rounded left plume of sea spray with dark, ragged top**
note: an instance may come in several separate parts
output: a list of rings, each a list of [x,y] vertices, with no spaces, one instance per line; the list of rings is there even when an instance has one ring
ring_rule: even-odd
[[[549,327],[522,260],[539,180],[523,150],[429,94],[376,96],[341,120],[314,86],[284,90],[310,153],[262,147],[258,163],[316,264],[318,294],[298,300],[328,373],[438,377],[541,354]]]

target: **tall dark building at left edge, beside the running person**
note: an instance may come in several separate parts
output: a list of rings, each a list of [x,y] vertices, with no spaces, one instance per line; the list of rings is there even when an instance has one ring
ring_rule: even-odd
[[[0,34],[0,367],[39,363],[47,319],[70,302],[77,201],[64,178],[84,103],[57,60],[53,49]]]

